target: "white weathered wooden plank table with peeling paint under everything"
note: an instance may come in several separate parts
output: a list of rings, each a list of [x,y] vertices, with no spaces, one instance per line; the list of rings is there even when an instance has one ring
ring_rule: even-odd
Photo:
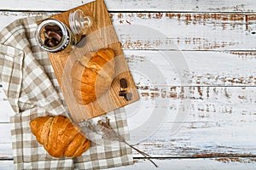
[[[135,129],[154,111],[164,119],[157,129],[144,129],[148,136],[137,148],[160,169],[256,169],[256,2],[105,2],[141,95],[126,108],[131,140],[140,138]],[[0,1],[0,29],[84,3]],[[13,112],[2,88],[0,114],[0,169],[13,169]],[[154,169],[134,156],[133,166],[115,169]]]

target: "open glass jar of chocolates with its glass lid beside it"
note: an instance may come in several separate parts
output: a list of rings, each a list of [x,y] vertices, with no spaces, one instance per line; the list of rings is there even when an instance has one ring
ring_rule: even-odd
[[[49,53],[71,52],[78,42],[75,35],[85,35],[93,21],[82,10],[70,13],[68,21],[70,29],[60,20],[48,19],[41,22],[35,32],[38,46]]]

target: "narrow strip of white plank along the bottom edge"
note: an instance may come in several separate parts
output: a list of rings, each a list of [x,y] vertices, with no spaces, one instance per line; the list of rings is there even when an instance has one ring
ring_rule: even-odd
[[[143,169],[154,169],[154,166],[149,162],[142,159],[134,159],[135,163],[131,166],[125,167],[114,167],[109,168],[109,170],[143,170]],[[154,162],[159,166],[161,170],[241,170],[241,169],[255,169],[256,163],[255,158],[207,158],[207,159],[154,159]],[[14,169],[13,161],[0,161],[0,167],[4,170]]]

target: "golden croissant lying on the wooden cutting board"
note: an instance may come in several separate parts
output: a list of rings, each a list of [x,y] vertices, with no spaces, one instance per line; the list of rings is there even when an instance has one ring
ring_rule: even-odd
[[[71,70],[73,95],[87,105],[110,88],[115,73],[114,52],[110,48],[85,54]]]

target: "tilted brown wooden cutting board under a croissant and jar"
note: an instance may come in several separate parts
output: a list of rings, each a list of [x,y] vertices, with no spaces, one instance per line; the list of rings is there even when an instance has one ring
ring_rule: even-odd
[[[131,104],[139,99],[137,88],[131,77],[131,71],[125,61],[125,56],[120,46],[118,37],[114,31],[108,10],[103,0],[87,3],[78,8],[73,8],[61,14],[56,14],[50,18],[60,20],[69,27],[68,16],[71,12],[81,9],[84,14],[93,18],[93,25],[86,33],[86,37],[82,40],[85,42],[83,48],[75,48],[70,54],[50,54],[49,59],[54,68],[55,76],[61,87],[61,92],[67,102],[70,116],[73,122],[83,122],[92,117],[100,116],[108,111],[113,111],[119,107]],[[115,53],[115,71],[116,75],[113,79],[111,88],[102,94],[96,101],[88,105],[78,104],[73,96],[71,87],[70,71],[73,63],[81,55],[90,51],[96,51],[100,48],[112,48]],[[128,82],[127,91],[132,94],[132,99],[126,101],[119,96],[119,80],[125,78]]]

